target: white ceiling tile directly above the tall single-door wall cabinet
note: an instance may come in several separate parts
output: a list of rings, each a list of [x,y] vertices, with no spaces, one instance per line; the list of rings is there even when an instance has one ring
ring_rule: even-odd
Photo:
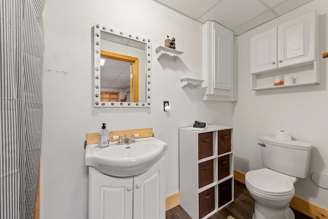
[[[268,9],[258,0],[221,0],[199,20],[214,20],[232,30],[266,11]]]

